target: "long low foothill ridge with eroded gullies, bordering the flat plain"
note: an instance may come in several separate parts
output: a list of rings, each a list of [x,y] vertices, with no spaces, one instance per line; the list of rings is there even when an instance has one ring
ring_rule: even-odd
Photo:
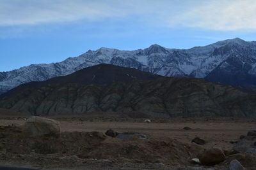
[[[253,94],[196,78],[46,85],[0,101],[1,108],[32,115],[135,111],[150,117],[256,117],[255,104]]]

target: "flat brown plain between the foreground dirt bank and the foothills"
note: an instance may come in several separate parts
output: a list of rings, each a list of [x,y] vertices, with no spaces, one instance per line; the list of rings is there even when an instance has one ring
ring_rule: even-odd
[[[52,118],[52,117],[50,117]],[[55,118],[58,120],[58,118]],[[58,120],[61,124],[62,132],[106,132],[108,129],[113,129],[117,132],[136,131],[151,134],[155,137],[168,137],[177,139],[184,143],[191,143],[191,140],[195,137],[200,137],[207,141],[205,148],[219,147],[224,150],[230,150],[232,144],[230,141],[238,140],[239,136],[246,135],[248,131],[256,129],[256,121],[252,119],[225,120],[221,121],[207,118],[207,122],[204,120],[196,120],[193,118],[193,122],[172,122],[155,123],[154,119],[151,123],[144,123],[143,119],[134,119],[134,122],[90,122],[81,121],[79,118],[67,118]],[[195,121],[194,121],[195,120]],[[212,121],[212,122],[211,122]],[[214,122],[213,122],[214,121]],[[0,125],[22,125],[25,120],[0,120]],[[190,127],[191,130],[184,130],[184,127]]]

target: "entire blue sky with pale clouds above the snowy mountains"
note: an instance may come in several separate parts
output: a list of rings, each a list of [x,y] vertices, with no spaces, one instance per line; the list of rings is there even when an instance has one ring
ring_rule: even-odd
[[[256,40],[255,0],[0,0],[0,71],[100,47]]]

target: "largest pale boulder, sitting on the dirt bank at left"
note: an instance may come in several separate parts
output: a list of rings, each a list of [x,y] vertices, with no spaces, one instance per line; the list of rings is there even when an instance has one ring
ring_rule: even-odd
[[[56,120],[44,117],[29,117],[26,120],[23,134],[28,138],[42,137],[42,136],[60,136],[60,123]]]

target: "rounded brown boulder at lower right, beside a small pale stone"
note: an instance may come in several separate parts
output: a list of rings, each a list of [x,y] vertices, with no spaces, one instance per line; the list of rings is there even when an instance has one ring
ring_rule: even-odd
[[[220,148],[210,148],[200,153],[198,159],[206,166],[214,166],[225,160],[225,154]]]

